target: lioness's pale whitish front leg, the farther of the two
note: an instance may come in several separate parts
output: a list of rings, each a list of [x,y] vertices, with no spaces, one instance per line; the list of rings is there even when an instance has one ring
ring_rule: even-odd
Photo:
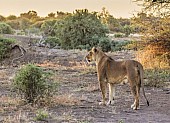
[[[109,101],[107,105],[112,105],[114,104],[114,96],[115,96],[115,86],[112,83],[109,84]]]

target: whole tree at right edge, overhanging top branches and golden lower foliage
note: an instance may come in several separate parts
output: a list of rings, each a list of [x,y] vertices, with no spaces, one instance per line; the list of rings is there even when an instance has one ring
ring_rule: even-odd
[[[159,61],[156,67],[164,67],[160,63],[170,66],[170,0],[144,0],[142,3],[143,12],[133,21],[143,35],[143,53],[152,56],[152,64]]]

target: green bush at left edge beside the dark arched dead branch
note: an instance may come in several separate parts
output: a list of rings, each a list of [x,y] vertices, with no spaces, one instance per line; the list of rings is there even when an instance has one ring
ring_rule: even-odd
[[[14,39],[0,37],[0,61],[9,57],[12,44],[14,43]]]

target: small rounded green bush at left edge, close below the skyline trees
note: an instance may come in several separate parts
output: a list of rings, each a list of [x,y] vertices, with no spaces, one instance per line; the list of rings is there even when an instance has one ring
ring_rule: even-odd
[[[14,30],[11,28],[10,25],[6,23],[0,23],[0,33],[1,34],[12,34],[14,33]]]

